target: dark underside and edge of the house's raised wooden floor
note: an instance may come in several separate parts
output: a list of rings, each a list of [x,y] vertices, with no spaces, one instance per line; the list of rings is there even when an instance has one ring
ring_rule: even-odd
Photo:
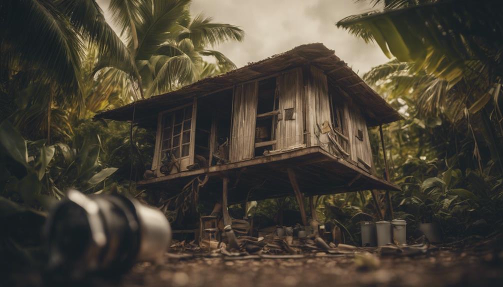
[[[220,198],[222,178],[229,179],[229,203],[293,195],[288,170],[294,174],[300,191],[306,196],[336,194],[359,190],[399,188],[371,175],[319,147],[302,148],[263,156],[238,163],[213,166],[158,177],[138,183],[139,188],[160,190],[176,195],[196,177],[208,181],[200,190],[200,199]]]

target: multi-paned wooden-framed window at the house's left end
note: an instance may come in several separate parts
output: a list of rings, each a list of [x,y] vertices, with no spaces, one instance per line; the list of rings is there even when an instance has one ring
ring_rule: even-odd
[[[192,105],[163,115],[161,159],[165,155],[170,155],[172,161],[189,156],[191,125]]]

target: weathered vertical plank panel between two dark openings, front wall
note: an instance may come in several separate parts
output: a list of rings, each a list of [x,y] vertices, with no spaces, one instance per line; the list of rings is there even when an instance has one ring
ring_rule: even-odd
[[[253,158],[257,120],[258,82],[236,86],[232,104],[230,162]]]

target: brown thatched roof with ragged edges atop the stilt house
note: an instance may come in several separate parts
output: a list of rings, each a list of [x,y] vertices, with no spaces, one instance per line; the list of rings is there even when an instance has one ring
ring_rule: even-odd
[[[101,112],[95,118],[131,120],[133,108],[136,107],[135,122],[144,125],[151,122],[154,126],[158,112],[172,107],[174,104],[188,101],[196,95],[212,93],[227,87],[232,88],[233,85],[241,82],[265,77],[309,63],[323,70],[330,83],[343,89],[361,107],[362,112],[369,121],[369,125],[378,125],[401,119],[397,111],[365,84],[332,50],[329,50],[321,43],[301,45],[290,51],[256,63],[250,63],[225,74],[202,79],[179,90]]]

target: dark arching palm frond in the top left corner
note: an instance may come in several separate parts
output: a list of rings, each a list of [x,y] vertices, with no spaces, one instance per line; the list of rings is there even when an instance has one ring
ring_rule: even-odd
[[[77,94],[83,47],[77,31],[50,0],[6,0],[0,4],[2,70],[17,62],[33,77],[47,75]],[[5,71],[4,70],[4,71]]]

